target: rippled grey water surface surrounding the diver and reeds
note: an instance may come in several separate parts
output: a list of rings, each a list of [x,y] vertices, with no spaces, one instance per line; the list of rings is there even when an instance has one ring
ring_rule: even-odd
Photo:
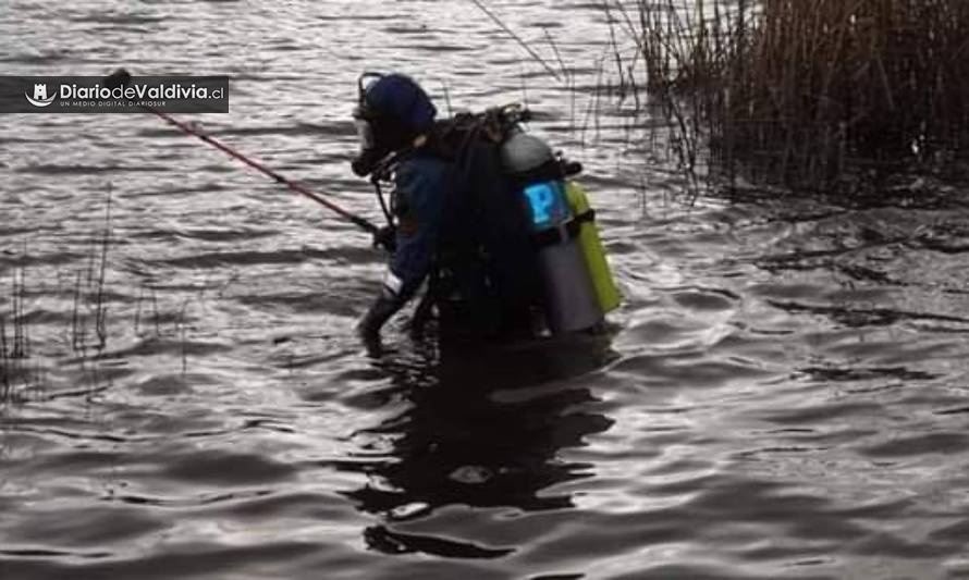
[[[232,75],[205,126],[371,217],[361,70],[524,78],[627,299],[611,341],[369,357],[366,236],[150,116],[0,116],[0,578],[969,578],[964,193],[677,202],[654,123],[586,114],[599,4],[493,9],[577,88],[457,0],[5,3],[4,74]]]

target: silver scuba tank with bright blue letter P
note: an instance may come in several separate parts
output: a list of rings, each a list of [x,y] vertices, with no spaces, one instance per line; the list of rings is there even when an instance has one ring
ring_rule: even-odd
[[[501,148],[503,169],[513,177],[528,175],[555,160],[543,140],[513,134]],[[549,329],[555,333],[594,326],[603,319],[575,222],[561,178],[516,180],[530,212],[532,240],[542,280]]]

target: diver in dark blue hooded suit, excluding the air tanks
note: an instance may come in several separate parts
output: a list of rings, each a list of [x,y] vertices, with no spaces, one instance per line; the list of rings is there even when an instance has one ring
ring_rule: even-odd
[[[445,146],[447,132],[436,115],[408,76],[360,78],[354,111],[360,151],[353,171],[393,187],[391,224],[373,240],[391,252],[390,261],[379,295],[357,325],[368,343],[429,277],[413,325],[436,310],[441,334],[474,340],[530,332],[539,292],[533,264],[520,251],[528,233],[519,202],[508,193],[494,151],[477,139]]]

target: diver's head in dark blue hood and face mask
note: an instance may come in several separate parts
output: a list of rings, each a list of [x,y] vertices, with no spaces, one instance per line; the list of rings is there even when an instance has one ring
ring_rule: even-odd
[[[360,75],[359,101],[353,113],[360,151],[352,163],[354,173],[368,175],[389,153],[413,144],[431,128],[437,113],[427,92],[409,76]]]

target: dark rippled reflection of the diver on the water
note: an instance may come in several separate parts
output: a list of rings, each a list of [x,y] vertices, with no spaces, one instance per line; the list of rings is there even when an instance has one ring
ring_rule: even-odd
[[[403,409],[354,434],[361,452],[335,467],[366,474],[367,483],[342,493],[360,510],[391,522],[426,518],[451,505],[522,511],[574,507],[571,495],[554,486],[592,477],[594,466],[559,455],[612,424],[587,409],[598,399],[576,384],[576,378],[601,367],[605,347],[606,338],[581,340],[449,353],[440,365],[393,356],[375,360],[375,368],[390,375],[389,388]],[[368,528],[365,538],[370,548],[391,554],[486,558],[514,552],[385,526]]]

